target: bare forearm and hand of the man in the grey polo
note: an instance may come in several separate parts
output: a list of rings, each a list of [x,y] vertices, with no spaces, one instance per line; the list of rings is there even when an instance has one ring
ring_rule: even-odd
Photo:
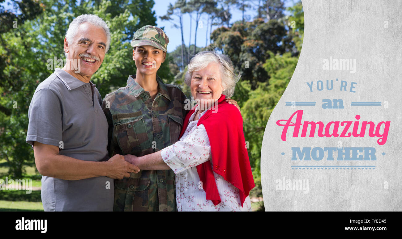
[[[80,180],[107,176],[114,179],[130,177],[129,173],[138,173],[139,168],[124,160],[122,155],[115,155],[109,161],[96,162],[74,159],[59,154],[59,147],[34,142],[35,164],[43,176],[64,180]]]

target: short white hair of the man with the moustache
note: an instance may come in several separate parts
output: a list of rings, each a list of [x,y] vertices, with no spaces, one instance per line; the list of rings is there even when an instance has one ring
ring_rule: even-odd
[[[78,28],[80,27],[80,25],[84,22],[88,22],[92,25],[94,25],[95,27],[98,28],[103,28],[103,30],[105,30],[106,33],[106,37],[107,37],[107,42],[106,42],[106,52],[109,51],[109,47],[110,47],[110,30],[109,27],[107,26],[106,22],[104,20],[102,20],[102,18],[93,15],[93,14],[82,14],[80,16],[77,16],[68,26],[68,30],[66,32],[66,39],[68,44],[71,44],[72,42],[74,42],[74,37],[76,36],[77,32],[78,32]],[[64,55],[67,56],[66,53],[64,53]]]

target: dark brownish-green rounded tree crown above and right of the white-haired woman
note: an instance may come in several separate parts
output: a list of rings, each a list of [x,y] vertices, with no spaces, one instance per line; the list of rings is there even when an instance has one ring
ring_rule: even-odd
[[[252,90],[258,82],[267,82],[269,75],[263,64],[270,56],[268,51],[283,54],[293,49],[292,37],[283,22],[258,18],[252,22],[236,22],[230,29],[220,27],[213,31],[213,45],[229,55],[234,66],[242,74],[242,80],[251,84]]]

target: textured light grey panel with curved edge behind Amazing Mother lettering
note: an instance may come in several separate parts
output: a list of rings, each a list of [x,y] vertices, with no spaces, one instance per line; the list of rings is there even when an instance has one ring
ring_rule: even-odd
[[[400,211],[402,208],[400,127],[402,102],[402,1],[338,0],[302,1],[305,18],[303,48],[287,89],[273,110],[265,129],[261,152],[261,180],[268,211]],[[388,24],[388,25],[387,25]],[[356,59],[350,70],[324,70],[323,59]],[[336,78],[339,80],[336,81]],[[313,92],[306,82],[324,82]],[[326,90],[326,80],[334,89]],[[340,80],[357,82],[355,93],[340,91]],[[323,109],[322,99],[342,99],[343,109]],[[316,106],[285,106],[289,101],[315,101]],[[351,106],[351,102],[377,101],[381,106]],[[388,108],[384,105],[388,102]],[[388,139],[377,137],[292,137],[281,140],[287,120],[302,109],[302,121],[390,121]],[[294,120],[293,120],[294,122]],[[360,123],[361,124],[361,123]],[[340,127],[343,129],[343,127]],[[384,128],[382,128],[383,130]],[[349,131],[351,132],[351,131]],[[380,131],[382,132],[382,131]],[[299,134],[300,136],[300,134]],[[292,161],[291,147],[374,147],[376,161]],[[281,153],[285,155],[281,155]],[[381,153],[386,153],[382,155]],[[326,155],[325,155],[326,156]],[[336,156],[336,155],[335,155]],[[374,165],[375,169],[293,170],[292,165]],[[308,180],[308,193],[277,190],[279,181]],[[307,182],[307,181],[304,181]],[[281,188],[279,188],[281,189]],[[307,190],[305,190],[307,192]]]

